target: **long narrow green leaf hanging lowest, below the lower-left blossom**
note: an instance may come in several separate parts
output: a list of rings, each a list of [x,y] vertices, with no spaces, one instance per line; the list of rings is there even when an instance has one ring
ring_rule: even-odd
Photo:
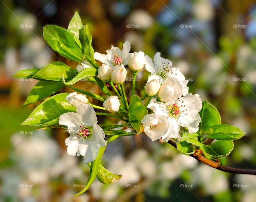
[[[79,196],[82,193],[86,192],[86,190],[89,189],[89,187],[93,184],[93,182],[97,176],[99,166],[101,165],[101,159],[102,159],[105,149],[106,149],[106,146],[99,148],[99,153],[98,153],[96,159],[91,163],[87,185],[79,193],[77,193],[76,196]]]

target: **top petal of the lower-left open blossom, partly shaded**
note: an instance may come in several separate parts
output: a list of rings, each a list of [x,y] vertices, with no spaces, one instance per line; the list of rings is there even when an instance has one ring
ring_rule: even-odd
[[[93,107],[89,104],[80,104],[77,107],[77,114],[82,116],[82,121],[86,126],[93,126],[97,123],[97,117]]]

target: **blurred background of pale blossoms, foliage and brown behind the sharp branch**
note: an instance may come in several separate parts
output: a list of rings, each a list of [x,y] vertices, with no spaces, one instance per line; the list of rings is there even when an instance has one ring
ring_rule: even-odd
[[[62,129],[21,126],[39,104],[23,106],[37,81],[12,77],[52,61],[75,68],[51,50],[42,31],[46,24],[67,28],[78,11],[90,27],[95,52],[105,53],[128,40],[131,52],[142,50],[151,57],[161,52],[172,60],[190,80],[190,93],[216,106],[222,123],[246,132],[222,164],[255,168],[255,1],[1,0],[0,5],[0,201],[256,200],[255,176],[215,170],[144,134],[107,147],[103,165],[122,174],[121,180],[103,185],[96,179],[87,193],[74,198],[86,183],[88,166],[81,157],[66,154],[68,134]],[[147,76],[145,69],[138,75],[138,95],[144,94]],[[100,93],[89,82],[75,87]],[[68,87],[63,91],[73,92]],[[98,119],[101,124],[116,121]]]

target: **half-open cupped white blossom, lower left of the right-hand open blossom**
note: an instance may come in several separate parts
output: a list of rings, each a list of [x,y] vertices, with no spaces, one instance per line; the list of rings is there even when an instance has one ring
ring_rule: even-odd
[[[153,141],[165,137],[169,131],[169,121],[166,116],[147,114],[141,120],[144,132]]]

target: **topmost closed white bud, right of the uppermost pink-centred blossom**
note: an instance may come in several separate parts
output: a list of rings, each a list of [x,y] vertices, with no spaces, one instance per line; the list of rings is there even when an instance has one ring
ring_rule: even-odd
[[[130,69],[134,72],[141,71],[144,67],[144,56],[145,54],[141,51],[138,53],[129,53],[128,55],[128,65]]]

